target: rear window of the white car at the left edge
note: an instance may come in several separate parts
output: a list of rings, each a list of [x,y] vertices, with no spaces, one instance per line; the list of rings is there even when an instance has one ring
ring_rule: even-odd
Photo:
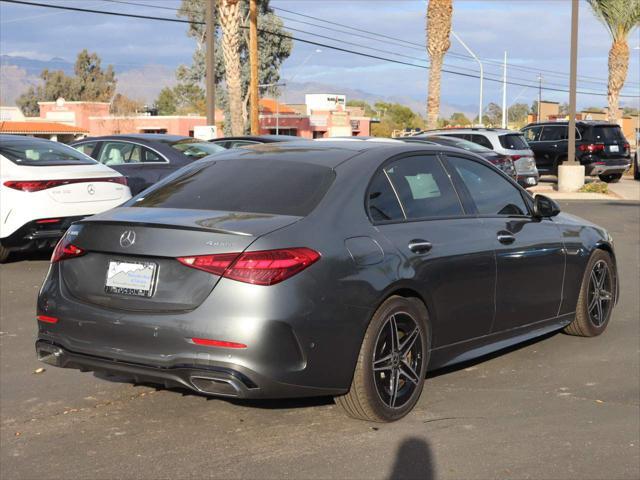
[[[17,165],[92,165],[95,160],[62,143],[28,141],[23,138],[2,140],[0,153]]]

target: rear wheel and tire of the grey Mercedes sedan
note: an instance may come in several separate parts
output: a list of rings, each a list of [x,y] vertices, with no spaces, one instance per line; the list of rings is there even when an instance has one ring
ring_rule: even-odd
[[[336,397],[336,403],[361,420],[392,422],[404,417],[422,393],[430,338],[424,304],[389,297],[371,318],[351,388]]]

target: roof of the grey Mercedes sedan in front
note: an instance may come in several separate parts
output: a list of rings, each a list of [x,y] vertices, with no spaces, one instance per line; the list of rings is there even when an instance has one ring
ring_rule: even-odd
[[[363,153],[371,154],[372,156],[376,156],[377,153],[380,158],[386,159],[397,154],[417,150],[427,152],[460,152],[460,149],[457,148],[415,142],[346,142],[344,140],[309,142],[302,140],[299,142],[265,143],[235,148],[227,150],[226,152],[216,153],[215,155],[206,157],[206,159],[212,161],[237,158],[282,160],[335,168],[352,157]]]

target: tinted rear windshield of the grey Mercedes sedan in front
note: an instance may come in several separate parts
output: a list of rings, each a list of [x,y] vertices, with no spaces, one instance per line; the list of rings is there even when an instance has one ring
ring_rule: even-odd
[[[129,206],[308,215],[335,174],[320,165],[280,160],[203,160]]]

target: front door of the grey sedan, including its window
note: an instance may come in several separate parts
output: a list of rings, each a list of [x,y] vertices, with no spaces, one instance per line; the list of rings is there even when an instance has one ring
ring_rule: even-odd
[[[475,209],[496,254],[496,316],[492,331],[558,315],[565,252],[560,229],[531,215],[522,189],[480,161],[447,154],[467,209]]]

